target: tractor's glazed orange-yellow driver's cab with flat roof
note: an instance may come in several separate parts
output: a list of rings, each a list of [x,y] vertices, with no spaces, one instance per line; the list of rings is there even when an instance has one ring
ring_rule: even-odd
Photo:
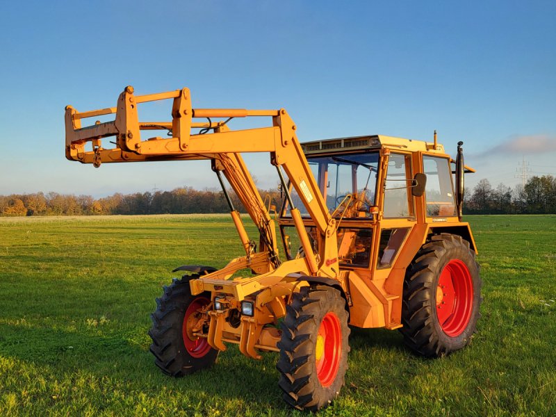
[[[302,149],[336,220],[342,270],[386,279],[416,224],[459,222],[452,160],[442,145],[360,136],[304,142]],[[295,189],[289,188],[318,252],[309,211]],[[303,256],[287,199],[279,223],[288,259]]]

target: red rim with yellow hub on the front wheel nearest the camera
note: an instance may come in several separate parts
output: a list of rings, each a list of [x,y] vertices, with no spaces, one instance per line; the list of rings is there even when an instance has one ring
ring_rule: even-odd
[[[322,318],[315,350],[318,380],[322,386],[330,386],[336,379],[342,356],[342,329],[336,314],[326,313]]]

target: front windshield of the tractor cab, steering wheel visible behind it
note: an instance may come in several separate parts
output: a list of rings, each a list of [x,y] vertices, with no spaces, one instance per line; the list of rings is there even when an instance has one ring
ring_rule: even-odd
[[[307,158],[334,217],[370,216],[369,208],[375,205],[378,159],[377,152]],[[301,214],[309,215],[293,188],[291,197]]]

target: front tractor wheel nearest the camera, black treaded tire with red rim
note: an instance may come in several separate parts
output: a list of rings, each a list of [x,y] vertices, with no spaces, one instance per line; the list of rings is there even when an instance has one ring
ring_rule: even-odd
[[[303,287],[286,306],[277,369],[284,400],[296,409],[317,411],[340,393],[347,370],[345,300],[329,286]]]

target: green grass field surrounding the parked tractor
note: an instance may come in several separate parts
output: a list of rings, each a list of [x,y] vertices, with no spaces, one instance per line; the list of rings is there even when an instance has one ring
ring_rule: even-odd
[[[467,218],[480,250],[471,345],[416,357],[398,332],[354,329],[341,397],[322,416],[556,415],[556,216]],[[236,346],[172,379],[149,353],[170,270],[241,247],[221,215],[0,218],[0,415],[287,416],[276,354]]]

